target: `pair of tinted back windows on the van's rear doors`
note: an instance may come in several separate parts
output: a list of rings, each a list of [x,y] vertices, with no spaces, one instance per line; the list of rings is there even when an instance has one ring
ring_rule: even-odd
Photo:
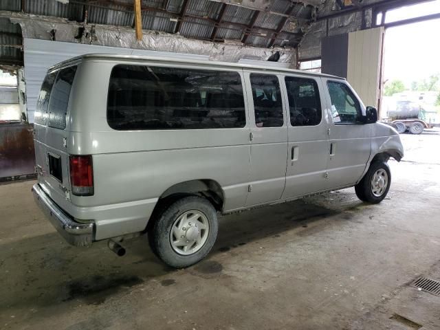
[[[36,103],[37,124],[48,124],[55,129],[65,129],[67,105],[76,69],[76,66],[66,67],[47,74]]]

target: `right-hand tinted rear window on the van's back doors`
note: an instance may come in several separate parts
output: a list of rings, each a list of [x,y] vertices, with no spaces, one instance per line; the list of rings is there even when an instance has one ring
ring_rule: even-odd
[[[49,126],[56,129],[65,129],[67,105],[69,104],[70,89],[74,83],[75,67],[61,69],[56,76],[54,87],[50,93]]]

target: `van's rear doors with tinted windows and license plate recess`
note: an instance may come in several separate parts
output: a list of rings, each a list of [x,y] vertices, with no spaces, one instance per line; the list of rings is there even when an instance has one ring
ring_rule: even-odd
[[[39,184],[57,203],[69,199],[67,109],[77,66],[49,72],[37,101],[34,122],[36,171]]]

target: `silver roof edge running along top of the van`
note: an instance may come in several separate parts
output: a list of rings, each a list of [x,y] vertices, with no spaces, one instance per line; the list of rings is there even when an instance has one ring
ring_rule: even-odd
[[[56,65],[53,65],[49,68],[48,71],[53,69],[58,69],[60,67],[64,67],[73,62],[78,62],[83,59],[94,58],[94,59],[103,59],[103,60],[115,60],[115,61],[156,61],[156,62],[174,62],[174,63],[188,63],[188,64],[203,64],[210,65],[214,67],[238,67],[242,69],[259,69],[264,71],[272,71],[272,72],[292,72],[295,74],[303,74],[307,76],[325,76],[331,78],[345,79],[338,76],[332,76],[331,74],[321,74],[319,72],[309,72],[298,69],[287,69],[285,67],[265,67],[264,65],[252,65],[245,63],[232,63],[232,62],[221,62],[221,61],[210,61],[210,60],[198,60],[198,59],[188,59],[188,58],[175,58],[175,57],[167,57],[167,56],[135,56],[135,55],[120,55],[120,54],[84,54],[81,56],[76,56],[74,58],[70,58],[67,61],[63,61]]]

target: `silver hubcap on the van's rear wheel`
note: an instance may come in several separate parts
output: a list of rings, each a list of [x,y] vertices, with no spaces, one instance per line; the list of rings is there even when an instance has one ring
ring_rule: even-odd
[[[187,256],[201,249],[209,233],[208,218],[197,210],[181,214],[174,221],[170,232],[171,247],[178,254]]]

